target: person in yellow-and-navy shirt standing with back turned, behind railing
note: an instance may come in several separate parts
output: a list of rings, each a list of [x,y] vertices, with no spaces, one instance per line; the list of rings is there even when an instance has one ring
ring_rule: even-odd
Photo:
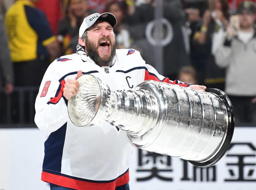
[[[14,67],[15,87],[35,86],[39,88],[41,78],[50,64],[50,59],[59,56],[59,44],[56,37],[51,31],[44,13],[35,8],[35,1],[17,0],[5,15],[5,27]],[[28,106],[31,99],[32,102],[35,100],[35,95],[34,97],[29,94],[25,95],[25,106]],[[18,103],[18,98],[13,97],[12,104],[15,107],[12,108],[14,114],[12,117],[15,121],[18,118]],[[29,114],[30,110],[23,111]],[[27,115],[26,121],[29,119],[28,117]],[[33,120],[30,121],[33,122]]]

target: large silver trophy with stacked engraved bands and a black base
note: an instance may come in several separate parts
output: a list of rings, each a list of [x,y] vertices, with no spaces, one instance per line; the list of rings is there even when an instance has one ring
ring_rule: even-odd
[[[234,112],[221,90],[204,92],[147,80],[133,90],[110,91],[92,75],[78,81],[79,92],[68,100],[68,114],[76,126],[107,121],[125,130],[133,146],[199,167],[215,164],[230,145]]]

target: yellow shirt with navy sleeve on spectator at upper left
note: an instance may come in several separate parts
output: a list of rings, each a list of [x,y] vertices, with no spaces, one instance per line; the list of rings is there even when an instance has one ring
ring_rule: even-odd
[[[26,0],[16,1],[5,15],[5,27],[13,62],[50,57],[45,46],[55,41],[46,16]]]

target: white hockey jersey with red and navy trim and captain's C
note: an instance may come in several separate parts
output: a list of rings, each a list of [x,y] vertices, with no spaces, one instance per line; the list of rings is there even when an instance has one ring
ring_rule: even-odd
[[[77,72],[91,74],[108,84],[110,90],[131,90],[145,80],[169,81],[133,49],[116,51],[115,62],[101,67],[89,57],[78,54],[60,57],[52,62],[42,79],[35,102],[35,123],[48,133],[42,180],[79,190],[114,190],[129,181],[132,145],[125,132],[102,122],[100,126],[78,127],[68,117],[63,98],[65,81]]]

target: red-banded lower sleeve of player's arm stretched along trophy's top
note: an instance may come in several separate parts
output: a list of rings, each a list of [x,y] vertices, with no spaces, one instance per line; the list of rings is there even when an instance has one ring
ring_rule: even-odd
[[[188,87],[190,84],[187,83],[182,83],[179,80],[170,80],[168,77],[164,77],[162,75],[160,75],[157,70],[151,66],[146,64],[146,70],[145,70],[145,78],[144,80],[155,80],[155,81],[161,81],[161,82],[165,82],[165,83],[169,83],[169,84],[177,84],[179,86],[182,87]]]

